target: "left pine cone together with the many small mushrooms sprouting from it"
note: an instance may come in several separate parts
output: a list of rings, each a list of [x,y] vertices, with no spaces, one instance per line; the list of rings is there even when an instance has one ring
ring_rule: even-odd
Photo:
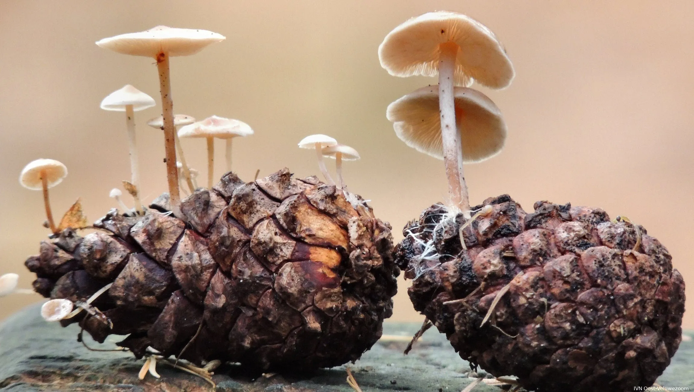
[[[168,69],[169,57],[194,54],[223,38],[159,26],[97,42],[157,60],[163,114],[150,124],[164,130],[169,192],[149,207],[139,202],[133,112],[151,105],[131,99],[146,96],[131,86],[124,87],[130,89],[125,98],[110,99],[106,109],[126,111],[133,180],[124,187],[134,209],[114,189],[110,196],[124,211],[110,210],[87,225],[76,203],[56,225],[48,188],[67,175],[65,166],[37,160],[20,179],[30,189],[43,189],[51,228],[40,254],[26,260],[37,275],[35,291],[51,298],[42,308],[44,318],[63,326],[78,323],[99,342],[110,334],[127,335],[118,344],[146,357],[141,377],[148,369],[158,377],[156,361],[168,357],[176,359],[174,366],[208,380],[209,364],[219,361],[263,370],[338,366],[371,348],[392,313],[400,270],[393,262],[390,225],[360,196],[334,185],[327,171],[327,184],[314,176],[294,178],[286,168],[252,182],[228,171],[212,182],[214,137],[226,139],[231,169],[231,138],[253,130],[216,116],[199,123],[174,117]],[[173,133],[186,123],[181,137],[208,139],[207,187],[194,188],[193,170]],[[330,139],[312,144],[321,169],[322,148],[337,144]],[[191,191],[183,200],[178,199],[177,147],[183,183]],[[92,232],[78,234],[84,228]],[[3,294],[19,292],[16,275],[4,281]],[[197,367],[205,364],[208,368]]]

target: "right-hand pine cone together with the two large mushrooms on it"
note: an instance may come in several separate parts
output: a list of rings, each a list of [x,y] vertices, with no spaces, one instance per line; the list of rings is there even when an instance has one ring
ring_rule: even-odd
[[[439,76],[387,110],[400,139],[444,160],[450,190],[450,205],[424,210],[396,248],[415,309],[472,366],[528,390],[651,386],[682,334],[684,281],[668,250],[600,208],[541,201],[526,213],[507,195],[468,203],[463,163],[498,153],[506,126],[465,86],[514,77],[489,28],[430,12],[389,33],[379,56],[394,76]]]

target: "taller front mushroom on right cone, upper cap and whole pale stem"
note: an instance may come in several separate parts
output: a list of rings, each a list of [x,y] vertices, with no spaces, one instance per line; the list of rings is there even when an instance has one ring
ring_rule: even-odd
[[[460,210],[470,209],[460,139],[455,131],[453,86],[477,81],[507,87],[514,68],[496,36],[480,22],[457,12],[437,11],[409,19],[378,47],[381,67],[393,76],[439,76],[439,108],[448,191]]]

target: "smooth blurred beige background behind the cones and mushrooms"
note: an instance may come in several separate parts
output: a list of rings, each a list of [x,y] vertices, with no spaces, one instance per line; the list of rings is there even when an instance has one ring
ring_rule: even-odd
[[[19,186],[24,164],[58,159],[68,178],[52,189],[60,216],[80,196],[91,221],[129,178],[124,114],[99,102],[125,84],[158,98],[153,61],[94,42],[159,24],[226,35],[196,56],[171,60],[174,111],[246,121],[237,139],[242,178],[289,167],[317,172],[299,150],[326,133],[359,150],[350,189],[371,199],[396,240],[409,219],[446,198],[443,164],[407,148],[387,105],[432,78],[394,78],[377,49],[392,28],[430,10],[466,12],[504,42],[516,67],[507,90],[486,91],[509,127],[505,150],[467,167],[471,201],[509,193],[534,201],[603,207],[648,228],[674,257],[694,298],[694,2],[681,1],[29,1],[0,2],[0,273],[19,272],[47,234],[40,192]],[[166,186],[160,131],[136,113],[143,194]],[[183,142],[205,167],[200,140]],[[221,144],[218,144],[221,152]],[[221,173],[223,159],[217,160]],[[204,171],[203,171],[204,175]],[[148,200],[149,200],[148,199]],[[401,282],[396,320],[420,321]],[[38,296],[0,299],[0,318]],[[691,301],[690,301],[691,302]],[[694,314],[686,314],[694,327]]]

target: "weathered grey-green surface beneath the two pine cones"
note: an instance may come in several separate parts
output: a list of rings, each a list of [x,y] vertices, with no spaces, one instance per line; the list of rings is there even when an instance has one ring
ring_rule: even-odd
[[[418,327],[412,323],[385,323],[384,334],[412,336]],[[158,366],[160,379],[148,375],[140,381],[137,373],[143,361],[136,361],[126,352],[89,351],[76,341],[78,332],[76,325],[61,328],[45,323],[38,305],[10,317],[0,327],[0,391],[213,391],[202,379],[164,364]],[[118,337],[113,338],[101,346],[87,343],[113,348]],[[407,356],[403,355],[406,344],[382,339],[362,359],[350,364],[364,392],[457,392],[471,382],[467,362],[433,328]],[[346,383],[345,366],[306,375],[262,375],[225,365],[215,373],[215,392],[353,392]],[[694,391],[694,342],[682,342],[658,382]],[[501,390],[479,385],[475,391]]]

